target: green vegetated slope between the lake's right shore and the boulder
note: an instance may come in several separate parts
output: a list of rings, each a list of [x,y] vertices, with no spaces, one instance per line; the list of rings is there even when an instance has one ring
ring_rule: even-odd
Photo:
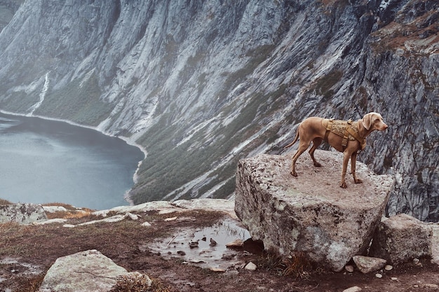
[[[209,133],[201,130],[190,141],[180,146],[177,146],[179,139],[176,137],[182,137],[183,130],[178,125],[168,125],[169,116],[161,116],[158,123],[137,141],[148,149],[148,156],[139,169],[139,183],[131,193],[134,202],[137,204],[149,200],[161,200],[187,181],[211,171],[215,162],[231,153],[236,141],[245,141],[262,128],[262,125],[255,123],[257,113],[269,114],[283,106],[283,100],[279,97],[285,94],[285,88],[286,85],[280,86],[278,90],[267,95],[255,93],[231,123],[219,125]],[[231,103],[224,106],[222,112],[227,116],[236,109],[236,106],[235,103]],[[227,181],[213,197],[230,195],[235,188],[234,172],[238,160],[245,157],[255,144],[263,144],[264,141],[273,139],[277,131],[278,127],[262,134],[254,144],[248,145],[241,151],[242,156],[236,156],[227,165],[219,167],[210,175],[211,180],[198,189],[198,193],[203,194],[221,181]],[[196,141],[200,143],[205,141],[208,135],[214,135],[217,139],[210,144],[193,146]],[[191,192],[192,190],[188,190],[187,193],[180,193],[182,195],[180,198],[191,199]]]

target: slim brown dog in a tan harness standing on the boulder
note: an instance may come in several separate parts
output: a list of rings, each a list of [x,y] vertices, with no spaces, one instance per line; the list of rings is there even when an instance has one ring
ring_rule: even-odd
[[[335,122],[346,123],[346,130],[343,130],[345,134],[340,135],[328,130],[327,125]],[[353,181],[355,181],[355,183],[362,183],[363,181],[357,179],[355,174],[357,153],[365,147],[365,138],[370,132],[374,130],[384,131],[387,127],[388,126],[383,122],[381,115],[373,112],[367,113],[361,120],[356,122],[351,122],[351,120],[334,121],[318,117],[306,118],[306,120],[299,125],[294,141],[284,147],[288,148],[295,144],[297,139],[300,139],[299,148],[297,148],[295,155],[292,156],[291,174],[297,176],[295,170],[297,158],[306,151],[309,144],[311,144],[311,141],[313,142],[313,146],[309,150],[309,155],[311,155],[314,166],[322,166],[316,161],[316,158],[314,158],[314,151],[316,151],[316,148],[320,146],[323,140],[325,140],[337,151],[344,153],[342,181],[340,182],[340,186],[342,188],[347,188],[346,169],[348,167],[349,158],[351,158]]]

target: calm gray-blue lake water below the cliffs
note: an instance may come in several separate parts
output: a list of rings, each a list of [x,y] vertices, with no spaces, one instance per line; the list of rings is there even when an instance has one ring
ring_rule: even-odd
[[[96,130],[0,113],[0,198],[109,209],[128,204],[139,148]]]

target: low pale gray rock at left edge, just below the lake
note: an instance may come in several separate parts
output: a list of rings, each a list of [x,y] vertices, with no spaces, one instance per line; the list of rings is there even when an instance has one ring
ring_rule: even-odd
[[[0,205],[0,223],[30,224],[45,220],[47,220],[47,216],[40,204]]]

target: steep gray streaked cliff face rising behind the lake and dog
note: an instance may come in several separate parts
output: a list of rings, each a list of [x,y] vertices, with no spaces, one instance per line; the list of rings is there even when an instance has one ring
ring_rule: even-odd
[[[439,220],[439,4],[25,1],[0,34],[0,109],[93,125],[148,152],[135,203],[234,192],[307,116],[384,116],[359,155],[387,207]]]

